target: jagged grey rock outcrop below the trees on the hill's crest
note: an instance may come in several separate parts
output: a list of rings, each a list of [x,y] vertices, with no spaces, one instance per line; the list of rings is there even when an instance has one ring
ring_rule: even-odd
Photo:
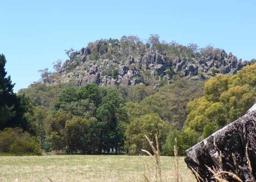
[[[173,74],[187,79],[208,79],[217,73],[233,75],[249,62],[237,60],[232,53],[224,50],[213,49],[202,55],[194,57],[181,57],[167,55],[150,48],[140,54],[124,56],[120,43],[108,43],[108,49],[116,49],[118,57],[108,58],[106,49],[101,49],[101,40],[89,43],[88,47],[72,52],[70,59],[63,63],[61,81],[77,80],[78,85],[96,83],[98,85],[148,85],[156,84],[163,78],[168,81]],[[110,47],[110,48],[109,48]],[[117,48],[116,48],[117,47]],[[96,49],[95,49],[96,48]],[[179,50],[184,49],[180,47]],[[95,60],[95,50],[103,56]],[[105,51],[105,52],[104,52]]]

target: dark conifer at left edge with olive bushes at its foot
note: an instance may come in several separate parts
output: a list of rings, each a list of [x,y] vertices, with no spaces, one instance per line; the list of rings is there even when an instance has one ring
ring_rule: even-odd
[[[14,84],[6,77],[5,56],[0,55],[0,153],[40,155],[40,141],[32,137],[32,123],[27,114],[33,105],[24,95],[13,93]]]

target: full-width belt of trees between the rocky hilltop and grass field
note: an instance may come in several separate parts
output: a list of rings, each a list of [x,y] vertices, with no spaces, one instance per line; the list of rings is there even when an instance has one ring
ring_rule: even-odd
[[[150,150],[144,135],[153,140],[157,133],[162,154],[173,155],[177,137],[179,154],[185,155],[186,149],[239,118],[256,101],[256,65],[207,82],[173,77],[159,88],[33,83],[16,95],[1,58],[1,89],[6,91],[0,92],[0,152],[38,155],[41,148],[102,154],[115,149],[134,155]],[[6,95],[16,101],[10,103]]]

